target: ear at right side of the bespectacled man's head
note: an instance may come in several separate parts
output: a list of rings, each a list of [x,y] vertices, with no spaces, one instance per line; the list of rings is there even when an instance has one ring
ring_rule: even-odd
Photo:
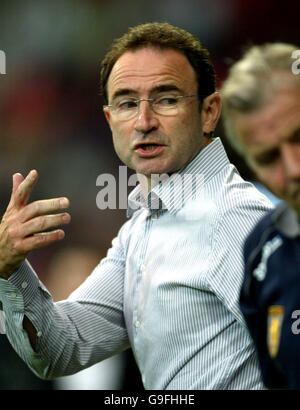
[[[221,97],[218,92],[204,98],[201,110],[202,130],[209,134],[219,121],[221,114]]]

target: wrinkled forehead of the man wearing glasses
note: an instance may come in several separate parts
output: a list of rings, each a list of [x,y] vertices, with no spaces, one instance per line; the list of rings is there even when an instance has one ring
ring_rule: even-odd
[[[161,84],[195,91],[196,74],[185,55],[173,49],[148,47],[127,51],[113,66],[108,79],[108,95],[122,88],[147,93]]]

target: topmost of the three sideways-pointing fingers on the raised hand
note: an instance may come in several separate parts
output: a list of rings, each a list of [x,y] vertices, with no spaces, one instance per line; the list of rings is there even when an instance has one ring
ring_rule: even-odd
[[[35,201],[23,208],[20,213],[20,221],[26,222],[37,216],[52,214],[70,206],[68,198],[53,198]]]

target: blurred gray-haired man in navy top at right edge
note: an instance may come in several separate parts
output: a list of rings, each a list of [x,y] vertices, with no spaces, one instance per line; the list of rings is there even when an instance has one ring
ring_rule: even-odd
[[[300,76],[297,47],[254,46],[222,87],[232,144],[259,180],[285,203],[265,216],[245,244],[241,309],[270,388],[300,388]]]

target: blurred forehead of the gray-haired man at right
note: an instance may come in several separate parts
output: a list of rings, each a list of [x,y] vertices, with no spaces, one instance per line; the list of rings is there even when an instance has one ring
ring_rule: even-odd
[[[300,87],[276,92],[264,107],[237,115],[234,122],[246,148],[260,150],[280,144],[300,127]]]

